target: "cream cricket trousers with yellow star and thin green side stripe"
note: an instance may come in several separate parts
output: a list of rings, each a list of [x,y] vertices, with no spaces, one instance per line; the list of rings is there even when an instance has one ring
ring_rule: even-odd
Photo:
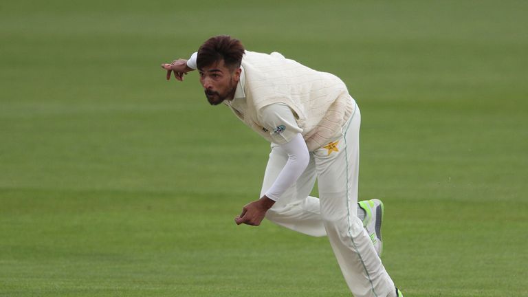
[[[285,228],[311,236],[328,236],[344,279],[355,297],[393,296],[388,276],[374,245],[357,217],[360,161],[360,110],[356,105],[336,148],[310,152],[310,161],[296,184],[284,193],[266,218]],[[261,196],[285,166],[288,155],[278,145],[264,175]],[[309,196],[318,181],[319,199]]]

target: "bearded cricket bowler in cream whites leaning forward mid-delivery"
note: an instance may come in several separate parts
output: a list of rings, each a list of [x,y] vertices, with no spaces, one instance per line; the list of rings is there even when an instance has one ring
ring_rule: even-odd
[[[224,103],[272,143],[261,198],[243,207],[237,224],[266,217],[326,235],[354,296],[403,296],[378,256],[383,204],[358,203],[361,115],[339,78],[276,52],[246,51],[230,36],[214,36],[188,60],[162,68],[177,80],[198,69],[208,102]],[[319,199],[309,196],[316,179]]]

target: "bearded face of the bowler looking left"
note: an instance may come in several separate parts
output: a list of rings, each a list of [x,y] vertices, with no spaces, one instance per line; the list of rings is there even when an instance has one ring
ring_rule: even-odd
[[[240,68],[231,70],[224,65],[223,60],[199,69],[200,83],[211,105],[233,99],[240,73]]]

